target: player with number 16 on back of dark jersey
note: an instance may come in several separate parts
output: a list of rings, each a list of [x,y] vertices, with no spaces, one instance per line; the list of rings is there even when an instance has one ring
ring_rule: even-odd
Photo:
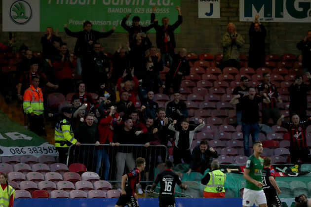
[[[170,160],[165,161],[165,171],[158,173],[156,179],[151,186],[150,191],[154,192],[156,185],[160,182],[160,195],[159,195],[159,207],[175,207],[175,184],[186,190],[187,185],[184,185],[178,176],[171,169],[173,167],[173,162]]]

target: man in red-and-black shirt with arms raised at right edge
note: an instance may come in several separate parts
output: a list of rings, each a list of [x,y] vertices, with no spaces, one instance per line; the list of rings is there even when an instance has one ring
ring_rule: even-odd
[[[311,163],[306,137],[306,129],[311,125],[311,119],[300,121],[300,117],[296,113],[293,113],[292,123],[282,122],[283,118],[284,115],[278,119],[277,125],[288,130],[290,136],[290,162],[295,164],[300,158],[303,163]]]

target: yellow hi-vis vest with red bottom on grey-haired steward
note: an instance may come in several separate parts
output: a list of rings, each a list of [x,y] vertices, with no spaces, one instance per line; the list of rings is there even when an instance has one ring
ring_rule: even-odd
[[[203,192],[204,198],[225,198],[226,174],[220,170],[209,172],[210,179]]]

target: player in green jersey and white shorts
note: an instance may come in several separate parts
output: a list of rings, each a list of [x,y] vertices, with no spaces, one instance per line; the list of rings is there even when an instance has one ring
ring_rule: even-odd
[[[261,175],[263,171],[264,160],[259,156],[263,152],[261,141],[255,141],[253,144],[254,153],[247,159],[244,178],[246,184],[243,193],[243,207],[251,207],[255,203],[259,207],[267,207],[265,193],[262,189],[263,183]]]

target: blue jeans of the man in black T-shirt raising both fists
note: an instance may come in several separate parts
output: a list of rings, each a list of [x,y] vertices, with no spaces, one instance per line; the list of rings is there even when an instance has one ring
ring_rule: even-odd
[[[242,132],[243,132],[243,139],[244,139],[244,155],[249,156],[249,146],[248,146],[248,140],[249,135],[252,136],[253,143],[257,140],[259,140],[259,126],[258,123],[253,124],[245,124],[242,123]]]

